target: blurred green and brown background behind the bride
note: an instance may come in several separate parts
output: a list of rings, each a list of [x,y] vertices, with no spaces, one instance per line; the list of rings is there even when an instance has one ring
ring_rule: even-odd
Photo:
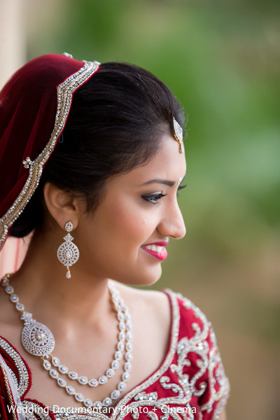
[[[187,235],[156,287],[214,324],[230,420],[280,419],[279,11],[272,0],[26,1],[27,59],[138,64],[189,116]]]

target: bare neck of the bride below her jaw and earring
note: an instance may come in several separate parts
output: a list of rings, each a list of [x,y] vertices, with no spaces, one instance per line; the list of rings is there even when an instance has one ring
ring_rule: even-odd
[[[111,312],[108,279],[92,276],[81,265],[71,268],[71,279],[66,279],[53,243],[46,235],[34,235],[22,267],[11,279],[15,293],[34,318],[55,323],[55,328],[75,328],[81,321],[97,326],[101,314]]]

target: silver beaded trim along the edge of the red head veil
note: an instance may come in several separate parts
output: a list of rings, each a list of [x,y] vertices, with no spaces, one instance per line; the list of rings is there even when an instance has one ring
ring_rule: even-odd
[[[45,162],[50,158],[57,143],[57,139],[64,129],[66,119],[69,115],[73,93],[99,69],[99,62],[85,61],[84,63],[85,65],[80,70],[73,73],[57,86],[57,113],[55,116],[55,126],[52,130],[48,144],[33,162],[29,157],[25,158],[22,162],[24,167],[29,169],[29,176],[18,198],[0,219],[0,246],[3,244],[3,241],[8,234],[8,229],[18,219],[20,214],[22,214],[22,211],[25,209],[38,186],[43,172],[43,165],[45,165]]]

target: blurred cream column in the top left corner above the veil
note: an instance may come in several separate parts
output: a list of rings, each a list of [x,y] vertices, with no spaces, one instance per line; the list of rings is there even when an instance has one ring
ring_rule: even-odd
[[[0,89],[26,61],[26,0],[0,0]]]

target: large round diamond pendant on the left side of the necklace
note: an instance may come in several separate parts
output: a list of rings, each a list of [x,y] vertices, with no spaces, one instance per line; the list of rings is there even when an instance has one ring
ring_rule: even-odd
[[[34,356],[48,356],[55,348],[55,337],[52,332],[32,318],[29,312],[23,312],[21,319],[25,321],[22,328],[22,346]]]

